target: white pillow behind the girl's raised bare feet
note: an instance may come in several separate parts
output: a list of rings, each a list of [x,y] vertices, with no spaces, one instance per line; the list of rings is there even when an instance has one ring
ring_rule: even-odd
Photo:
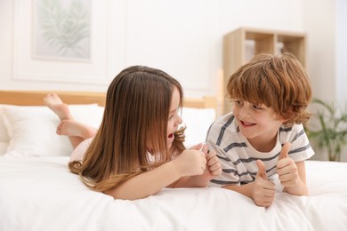
[[[72,116],[78,122],[98,128],[103,108],[96,104],[70,105]],[[60,123],[49,108],[44,106],[4,106],[4,125],[10,136],[5,155],[70,155],[69,138],[56,134]]]

